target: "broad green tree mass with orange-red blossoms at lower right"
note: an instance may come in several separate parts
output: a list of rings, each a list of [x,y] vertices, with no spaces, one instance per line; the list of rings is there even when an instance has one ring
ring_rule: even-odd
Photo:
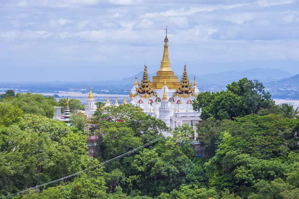
[[[217,190],[227,188],[243,197],[256,192],[252,198],[279,198],[281,192],[298,186],[298,153],[294,153],[299,149],[299,139],[294,137],[297,128],[297,120],[279,115],[251,114],[230,121],[219,135],[216,155],[205,163],[209,186]],[[265,196],[258,189],[266,187],[259,184],[262,182],[273,181],[269,186],[274,186],[278,178],[283,184],[279,185],[281,189],[275,188],[277,192],[273,189]]]

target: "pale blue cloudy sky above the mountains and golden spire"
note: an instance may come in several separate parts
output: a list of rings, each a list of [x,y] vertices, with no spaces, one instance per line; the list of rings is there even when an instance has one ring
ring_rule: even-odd
[[[68,81],[119,79],[144,64],[153,73],[166,25],[176,74],[184,64],[192,74],[299,73],[295,0],[1,0],[0,16],[0,68],[14,74],[1,74],[3,81],[33,71],[37,80],[61,80],[53,75],[59,68],[77,71]]]

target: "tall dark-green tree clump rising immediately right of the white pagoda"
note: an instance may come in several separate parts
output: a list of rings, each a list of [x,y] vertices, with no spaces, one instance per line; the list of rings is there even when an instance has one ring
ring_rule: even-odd
[[[234,119],[262,108],[272,108],[274,102],[269,92],[257,80],[240,79],[226,86],[226,91],[200,93],[193,102],[194,110],[201,110],[203,120],[213,117],[217,120]]]

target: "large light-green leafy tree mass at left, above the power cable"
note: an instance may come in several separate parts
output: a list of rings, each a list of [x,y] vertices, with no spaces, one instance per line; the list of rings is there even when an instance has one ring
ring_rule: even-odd
[[[28,115],[4,130],[0,153],[0,195],[33,187],[86,167],[87,136],[62,122]],[[2,146],[1,146],[2,147]],[[53,184],[55,185],[55,184]]]

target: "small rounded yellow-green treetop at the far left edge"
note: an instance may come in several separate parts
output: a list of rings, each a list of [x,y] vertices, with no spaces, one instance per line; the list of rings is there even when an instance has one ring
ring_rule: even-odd
[[[0,126],[9,126],[20,121],[23,111],[8,103],[0,103]]]

